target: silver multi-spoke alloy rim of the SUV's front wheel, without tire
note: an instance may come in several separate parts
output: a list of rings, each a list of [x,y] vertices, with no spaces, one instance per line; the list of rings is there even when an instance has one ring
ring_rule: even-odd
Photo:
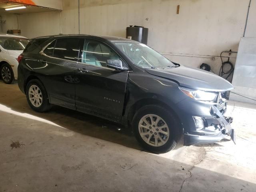
[[[151,146],[162,146],[169,139],[169,127],[158,115],[147,114],[143,116],[138,125],[141,138]]]

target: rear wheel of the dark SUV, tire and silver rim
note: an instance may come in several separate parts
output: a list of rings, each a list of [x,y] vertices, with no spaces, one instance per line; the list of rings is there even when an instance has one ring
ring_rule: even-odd
[[[32,79],[26,86],[26,98],[29,106],[36,112],[50,110],[48,94],[43,84],[38,79]]]

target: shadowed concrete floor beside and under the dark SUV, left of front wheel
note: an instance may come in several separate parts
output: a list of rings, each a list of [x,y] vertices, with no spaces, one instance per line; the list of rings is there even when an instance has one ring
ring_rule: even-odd
[[[44,113],[35,112],[28,105],[26,96],[19,90],[16,83],[9,85],[0,82],[0,93],[0,104],[14,112],[30,114],[80,134],[143,150],[131,129],[120,124],[61,106],[52,106],[48,112]]]

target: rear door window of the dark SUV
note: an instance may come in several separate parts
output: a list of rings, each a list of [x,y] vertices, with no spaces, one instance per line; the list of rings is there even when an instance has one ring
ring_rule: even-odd
[[[79,54],[79,40],[79,38],[57,39],[53,56],[56,58],[77,61]]]

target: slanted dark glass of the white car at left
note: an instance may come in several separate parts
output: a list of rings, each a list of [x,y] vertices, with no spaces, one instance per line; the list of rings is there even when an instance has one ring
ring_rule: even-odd
[[[29,40],[15,37],[0,37],[0,45],[7,50],[24,50]]]

